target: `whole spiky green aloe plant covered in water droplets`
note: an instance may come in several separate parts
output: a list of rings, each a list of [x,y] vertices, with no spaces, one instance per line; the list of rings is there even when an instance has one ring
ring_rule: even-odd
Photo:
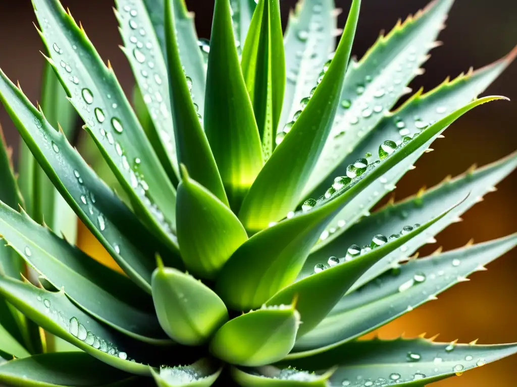
[[[18,180],[0,147],[0,384],[422,386],[517,352],[358,340],[517,244],[409,259],[515,153],[370,216],[450,124],[502,99],[478,95],[517,51],[393,110],[453,0],[356,61],[360,3],[341,34],[333,0],[300,2],[283,36],[279,0],[215,0],[208,42],[184,0],[115,0],[133,108],[70,11],[33,0],[42,105],[0,72],[24,141]],[[78,116],[110,185],[67,139]],[[123,273],[74,246],[72,212]]]

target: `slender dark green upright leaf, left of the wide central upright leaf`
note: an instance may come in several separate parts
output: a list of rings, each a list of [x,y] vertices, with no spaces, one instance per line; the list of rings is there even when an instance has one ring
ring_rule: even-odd
[[[174,0],[165,0],[165,37],[169,66],[169,86],[171,92],[174,135],[178,162],[185,164],[192,178],[214,193],[227,204],[226,193],[217,169],[214,155],[208,144],[201,119],[192,102],[193,79],[189,68],[181,62],[175,32]],[[196,49],[197,50],[197,49]],[[199,106],[199,104],[197,104]],[[201,116],[201,115],[200,115]]]

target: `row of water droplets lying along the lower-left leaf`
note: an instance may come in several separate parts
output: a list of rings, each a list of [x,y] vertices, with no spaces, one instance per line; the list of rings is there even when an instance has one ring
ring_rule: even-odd
[[[88,344],[89,346],[98,349],[104,353],[107,353],[111,356],[115,356],[122,360],[129,360],[134,362],[134,360],[128,359],[128,355],[126,352],[119,351],[117,347],[112,343],[109,343],[103,340],[101,337],[95,335],[94,333],[86,330],[85,326],[81,324],[81,322],[79,322],[77,317],[72,317],[70,319],[65,317],[63,312],[60,312],[53,307],[52,301],[48,298],[37,296],[37,300],[43,303],[46,313],[53,315],[53,318],[57,319],[60,322],[60,324],[62,324],[68,330],[68,332],[75,338],[78,338],[85,344]]]

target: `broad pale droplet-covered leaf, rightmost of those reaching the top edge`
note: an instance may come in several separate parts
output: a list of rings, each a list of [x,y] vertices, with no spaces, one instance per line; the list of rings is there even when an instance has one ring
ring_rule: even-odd
[[[382,113],[408,92],[406,85],[419,73],[428,51],[435,46],[434,40],[453,1],[437,0],[404,24],[399,22],[390,34],[379,37],[359,63],[353,62],[349,67],[332,131],[303,196],[316,187],[321,192],[331,185],[345,156],[381,121]]]

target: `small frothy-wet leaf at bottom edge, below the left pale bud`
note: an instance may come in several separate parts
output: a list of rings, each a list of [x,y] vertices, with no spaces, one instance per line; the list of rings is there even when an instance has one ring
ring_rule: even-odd
[[[158,387],[210,387],[221,374],[214,361],[201,359],[194,364],[151,370]]]

